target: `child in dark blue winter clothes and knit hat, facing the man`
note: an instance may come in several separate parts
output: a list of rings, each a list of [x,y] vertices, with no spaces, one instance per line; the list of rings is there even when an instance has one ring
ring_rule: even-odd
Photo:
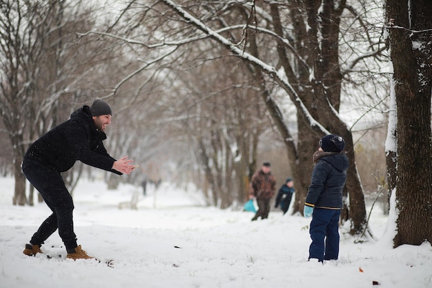
[[[320,148],[313,153],[315,166],[304,204],[304,217],[312,215],[309,259],[320,262],[339,257],[339,218],[348,169],[348,157],[342,154],[344,148],[344,139],[331,134],[322,137]]]

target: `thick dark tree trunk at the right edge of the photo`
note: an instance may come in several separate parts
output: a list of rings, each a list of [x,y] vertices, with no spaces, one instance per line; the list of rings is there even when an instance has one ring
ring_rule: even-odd
[[[432,44],[431,32],[421,32],[431,15],[429,0],[386,2],[397,106],[395,247],[432,242]]]

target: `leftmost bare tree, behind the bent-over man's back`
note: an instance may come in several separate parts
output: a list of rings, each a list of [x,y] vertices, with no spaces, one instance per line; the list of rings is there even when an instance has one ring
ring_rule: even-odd
[[[39,64],[55,21],[53,15],[60,5],[60,2],[3,1],[0,8],[0,111],[13,147],[14,204],[26,204],[21,161],[26,147],[25,133],[35,119],[25,115],[32,115],[29,106],[37,102]]]

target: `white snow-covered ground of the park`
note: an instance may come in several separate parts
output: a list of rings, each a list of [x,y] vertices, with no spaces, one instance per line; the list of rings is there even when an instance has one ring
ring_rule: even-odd
[[[138,209],[119,209],[133,193]],[[251,222],[251,212],[203,207],[192,189],[163,183],[144,197],[140,187],[108,191],[104,182],[83,180],[74,194],[75,233],[98,263],[25,256],[24,244],[50,210],[12,206],[12,194],[12,178],[0,178],[1,288],[432,287],[431,245],[392,249],[379,209],[371,228],[381,240],[354,244],[341,227],[340,259],[322,265],[307,261],[311,220],[300,215],[273,209],[268,220]],[[42,249],[66,257],[57,232]]]

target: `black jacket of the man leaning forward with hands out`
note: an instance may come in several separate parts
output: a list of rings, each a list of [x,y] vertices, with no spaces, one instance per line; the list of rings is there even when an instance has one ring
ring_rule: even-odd
[[[24,158],[54,167],[59,172],[68,171],[77,160],[111,171],[115,159],[102,143],[106,134],[97,130],[88,106],[82,106],[70,119],[43,135],[33,143]]]

